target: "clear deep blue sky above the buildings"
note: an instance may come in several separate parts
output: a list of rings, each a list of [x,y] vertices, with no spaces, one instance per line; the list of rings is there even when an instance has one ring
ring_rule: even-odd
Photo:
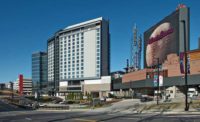
[[[190,44],[196,49],[198,0],[1,0],[0,82],[15,80],[20,73],[31,78],[31,54],[46,51],[49,37],[68,25],[100,16],[110,20],[111,71],[121,70],[130,57],[134,23],[143,35],[179,3],[190,7]]]

